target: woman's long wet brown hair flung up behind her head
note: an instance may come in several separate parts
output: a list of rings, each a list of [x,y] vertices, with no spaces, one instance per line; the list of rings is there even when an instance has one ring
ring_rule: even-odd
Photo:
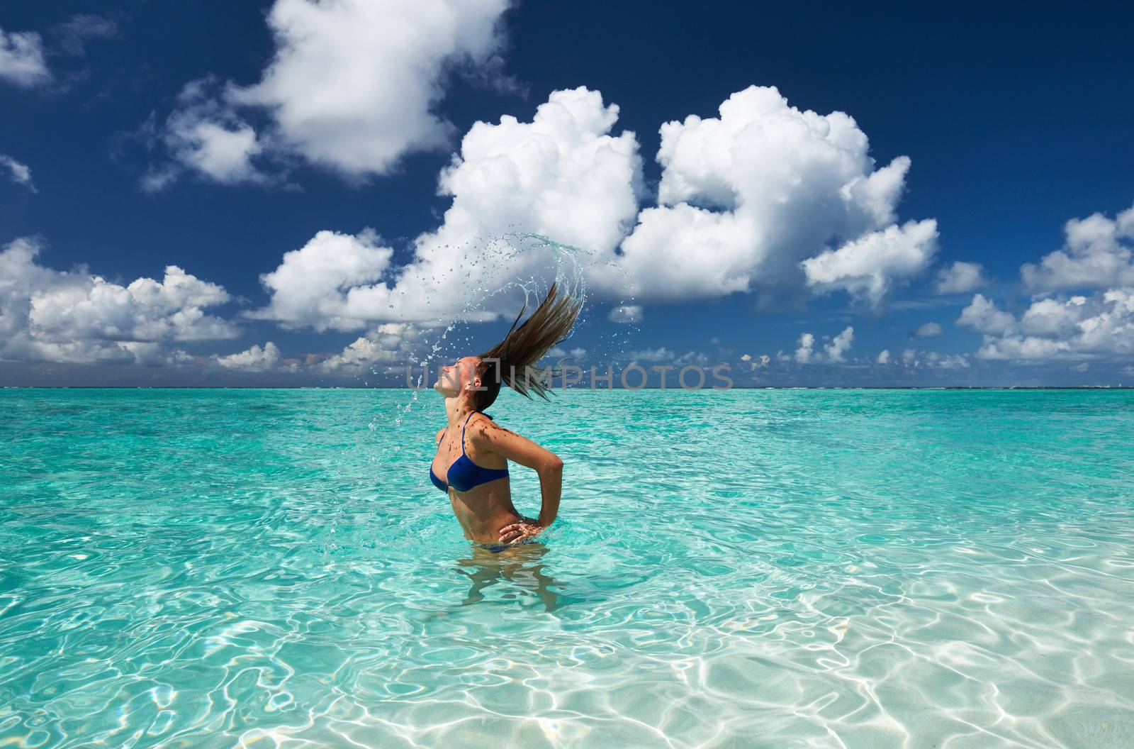
[[[480,354],[481,362],[476,367],[476,374],[481,378],[483,389],[473,393],[473,403],[477,411],[483,411],[496,402],[500,395],[501,381],[527,398],[535,393],[544,401],[550,399],[547,395],[549,388],[547,380],[553,372],[534,364],[552,346],[567,338],[583,309],[583,302],[569,292],[562,294],[558,292],[558,281],[552,283],[540,306],[532,312],[532,317],[527,318],[524,325],[517,328],[516,322],[519,322],[524,310],[527,309],[525,300],[523,309],[516,315],[516,321],[511,323],[503,340]]]

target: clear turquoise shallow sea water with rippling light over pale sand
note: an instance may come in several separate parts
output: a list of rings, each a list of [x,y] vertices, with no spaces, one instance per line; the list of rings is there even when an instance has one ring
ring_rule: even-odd
[[[484,561],[431,392],[0,392],[0,746],[1134,746],[1134,393],[555,398]]]

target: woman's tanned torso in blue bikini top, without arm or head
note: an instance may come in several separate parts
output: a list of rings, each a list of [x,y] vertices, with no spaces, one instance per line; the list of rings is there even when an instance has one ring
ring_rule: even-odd
[[[501,469],[506,469],[508,461],[501,455],[477,451],[467,436],[467,431],[477,421],[485,421],[488,416],[476,412],[471,414],[462,429],[446,429],[430,468],[433,474],[445,483],[449,482],[449,470],[458,461],[462,463],[458,468],[462,473],[479,474],[481,471],[477,469],[488,470],[483,473],[483,478],[490,480],[473,486],[467,491],[460,491],[450,485],[448,495],[452,513],[465,531],[465,538],[479,544],[496,544],[500,540],[500,529],[516,522],[521,516],[511,504],[508,477],[494,478],[498,473],[492,473],[492,471],[499,472]],[[465,432],[464,439],[463,432]],[[462,455],[465,456],[465,460],[462,460]],[[471,461],[472,465],[465,464],[467,461]]]

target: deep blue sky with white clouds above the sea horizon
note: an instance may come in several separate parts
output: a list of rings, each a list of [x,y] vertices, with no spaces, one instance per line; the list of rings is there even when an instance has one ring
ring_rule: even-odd
[[[583,365],[1134,384],[1134,12],[1030,12],[6,6],[0,384],[398,381],[508,228],[619,266]]]

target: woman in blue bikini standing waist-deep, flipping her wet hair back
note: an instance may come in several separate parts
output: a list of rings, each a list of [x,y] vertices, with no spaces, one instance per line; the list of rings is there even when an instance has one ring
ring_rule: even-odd
[[[533,367],[561,343],[578,318],[582,302],[567,294],[547,297],[524,325],[516,315],[503,340],[479,356],[463,356],[442,367],[433,386],[445,396],[449,426],[437,432],[437,454],[430,480],[449,495],[465,538],[493,552],[530,541],[555,522],[559,512],[564,462],[549,449],[509,431],[484,413],[500,394],[501,380],[528,398],[528,390],[548,399],[547,370]],[[511,504],[508,461],[533,469],[540,477],[539,517],[524,517]]]

